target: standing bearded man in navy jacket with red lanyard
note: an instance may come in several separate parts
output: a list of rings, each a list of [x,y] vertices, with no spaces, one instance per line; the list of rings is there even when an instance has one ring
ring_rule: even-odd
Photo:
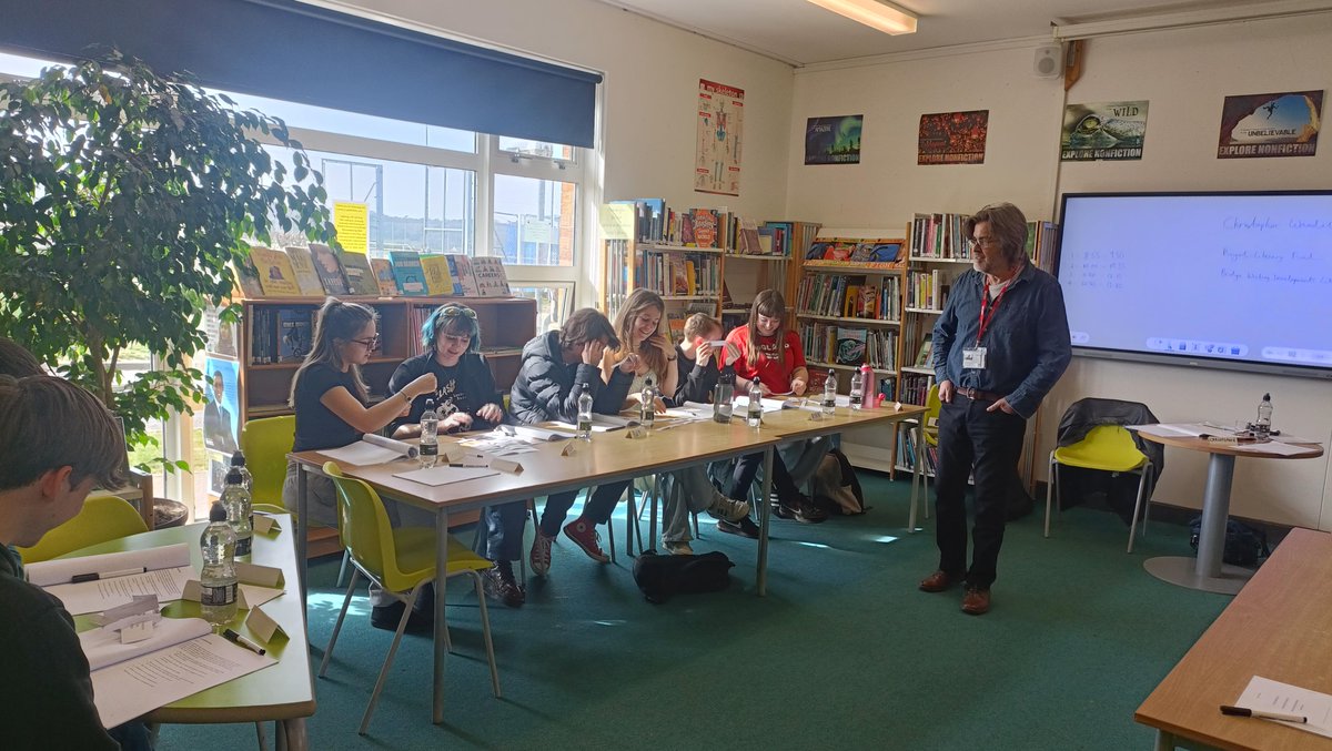
[[[940,593],[962,582],[962,611],[990,610],[1008,490],[1040,399],[1072,357],[1059,281],[1027,262],[1027,217],[1012,204],[966,221],[974,269],[952,285],[934,326],[939,382],[935,482],[939,570],[920,582]],[[975,477],[974,550],[967,569],[967,475]]]

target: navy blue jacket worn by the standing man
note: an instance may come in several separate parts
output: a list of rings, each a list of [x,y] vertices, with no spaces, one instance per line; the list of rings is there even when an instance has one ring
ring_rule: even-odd
[[[1004,394],[1014,411],[1031,417],[1072,360],[1064,293],[1055,277],[1024,264],[986,328],[986,369],[964,370],[962,350],[976,344],[984,289],[975,269],[952,282],[934,325],[935,379]]]

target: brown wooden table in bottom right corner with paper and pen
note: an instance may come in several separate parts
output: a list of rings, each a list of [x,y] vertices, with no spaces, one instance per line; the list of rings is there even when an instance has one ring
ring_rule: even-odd
[[[1255,675],[1332,690],[1332,535],[1291,530],[1215,623],[1138,707],[1158,750],[1328,751],[1332,739],[1277,722],[1232,718]]]

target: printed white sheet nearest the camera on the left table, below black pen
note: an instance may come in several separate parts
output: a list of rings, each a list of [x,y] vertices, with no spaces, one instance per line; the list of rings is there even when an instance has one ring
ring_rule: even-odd
[[[205,688],[276,664],[217,634],[140,655],[92,672],[101,723],[115,727]]]

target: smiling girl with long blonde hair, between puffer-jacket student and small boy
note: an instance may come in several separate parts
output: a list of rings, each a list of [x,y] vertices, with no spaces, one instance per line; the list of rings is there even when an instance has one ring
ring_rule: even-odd
[[[679,391],[679,354],[661,333],[662,314],[666,304],[646,289],[635,289],[619,308],[615,316],[615,333],[621,346],[606,350],[601,361],[602,376],[609,378],[621,362],[630,354],[638,354],[634,369],[634,382],[629,386],[625,406],[642,405],[642,387],[651,377],[659,385],[665,397],[675,398]],[[701,399],[701,401],[706,401]],[[657,397],[653,409],[665,411],[663,397]],[[679,483],[681,493],[673,493]],[[666,506],[662,515],[662,547],[675,555],[693,555],[689,534],[689,514],[707,511],[727,523],[749,518],[749,503],[733,501],[722,495],[707,479],[707,471],[699,466],[686,467],[666,475]]]

